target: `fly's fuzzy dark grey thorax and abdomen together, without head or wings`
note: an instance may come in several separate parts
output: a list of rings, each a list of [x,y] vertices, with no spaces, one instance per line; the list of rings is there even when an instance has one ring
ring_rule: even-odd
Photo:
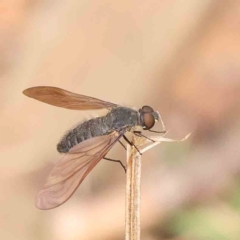
[[[84,140],[107,135],[113,131],[126,131],[136,125],[139,125],[139,113],[136,110],[116,107],[107,115],[90,119],[70,130],[57,145],[57,150],[66,153]]]

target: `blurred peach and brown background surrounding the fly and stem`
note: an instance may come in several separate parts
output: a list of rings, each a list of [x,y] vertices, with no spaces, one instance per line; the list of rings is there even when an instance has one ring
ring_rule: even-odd
[[[142,158],[142,240],[240,239],[239,1],[2,0],[0,53],[1,239],[124,239],[118,164],[101,161],[61,207],[35,208],[60,137],[97,114],[22,94],[39,85],[148,104],[169,137],[192,132]],[[109,156],[125,159],[120,146]]]

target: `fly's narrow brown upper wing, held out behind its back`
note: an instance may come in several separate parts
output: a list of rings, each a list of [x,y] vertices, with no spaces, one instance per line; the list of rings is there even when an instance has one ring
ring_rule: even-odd
[[[110,102],[72,93],[56,87],[32,87],[25,89],[23,94],[53,106],[73,110],[103,109],[117,106]]]

